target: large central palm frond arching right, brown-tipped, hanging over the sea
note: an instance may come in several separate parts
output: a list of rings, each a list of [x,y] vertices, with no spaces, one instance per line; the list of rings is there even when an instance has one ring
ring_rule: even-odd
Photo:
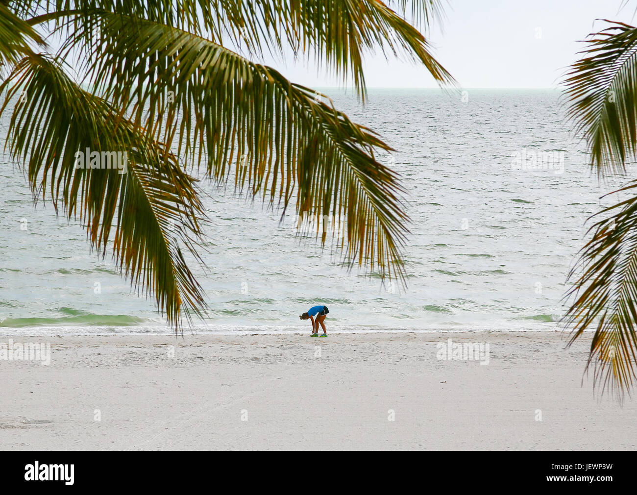
[[[134,102],[141,127],[174,144],[187,161],[204,160],[219,182],[233,167],[238,189],[248,185],[249,194],[283,213],[296,194],[299,215],[342,220],[333,236],[350,263],[403,276],[403,190],[374,154],[388,145],[310,89],[211,41],[121,15],[101,20],[108,42],[91,57],[96,92],[122,108]]]

